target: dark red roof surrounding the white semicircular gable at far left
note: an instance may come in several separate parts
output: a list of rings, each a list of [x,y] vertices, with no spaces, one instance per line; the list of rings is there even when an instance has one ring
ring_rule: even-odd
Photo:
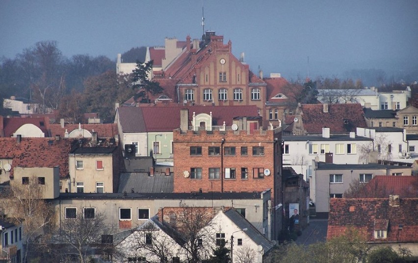
[[[41,129],[41,131],[45,134],[45,137],[50,137],[48,132],[49,122],[50,120],[48,118],[4,118],[4,137],[12,137],[13,133],[24,124],[33,124]]]

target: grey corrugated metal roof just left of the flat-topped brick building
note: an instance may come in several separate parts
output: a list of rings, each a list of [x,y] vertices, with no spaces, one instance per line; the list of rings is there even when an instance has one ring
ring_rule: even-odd
[[[158,173],[150,176],[148,172],[121,173],[118,192],[131,192],[132,189],[136,193],[173,192],[173,175]]]

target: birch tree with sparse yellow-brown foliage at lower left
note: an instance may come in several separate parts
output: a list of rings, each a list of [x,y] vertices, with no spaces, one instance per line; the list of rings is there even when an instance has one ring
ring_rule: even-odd
[[[55,209],[43,198],[45,191],[38,178],[31,176],[27,184],[15,182],[11,191],[0,198],[0,206],[7,211],[7,220],[22,225],[26,246],[23,262],[34,258],[51,239],[55,229]]]

